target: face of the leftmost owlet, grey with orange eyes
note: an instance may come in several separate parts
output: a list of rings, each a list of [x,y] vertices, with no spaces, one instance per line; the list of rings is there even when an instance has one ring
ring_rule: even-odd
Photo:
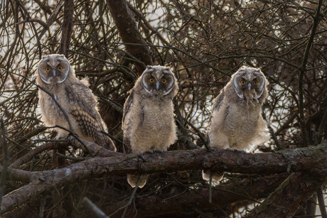
[[[46,55],[38,65],[38,75],[46,84],[59,84],[64,82],[70,65],[64,55]]]

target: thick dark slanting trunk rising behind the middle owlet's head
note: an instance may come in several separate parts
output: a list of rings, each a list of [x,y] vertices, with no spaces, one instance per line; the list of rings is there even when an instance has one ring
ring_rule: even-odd
[[[107,0],[107,4],[127,52],[139,60],[134,64],[137,74],[140,76],[146,65],[153,65],[151,51],[145,46],[144,39],[139,33],[139,28],[136,26],[127,1]]]

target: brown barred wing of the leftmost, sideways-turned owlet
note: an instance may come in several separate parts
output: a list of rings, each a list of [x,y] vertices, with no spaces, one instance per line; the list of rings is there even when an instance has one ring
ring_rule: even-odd
[[[108,148],[116,151],[112,140],[101,131],[106,131],[102,118],[96,110],[97,101],[91,90],[84,84],[73,84],[65,88],[70,103],[70,113],[73,115],[80,127],[82,134],[86,137]]]

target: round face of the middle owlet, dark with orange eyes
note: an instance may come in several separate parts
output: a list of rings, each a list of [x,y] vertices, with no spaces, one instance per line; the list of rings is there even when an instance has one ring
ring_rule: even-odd
[[[175,77],[169,67],[148,66],[141,77],[144,89],[150,94],[165,96],[175,84]]]

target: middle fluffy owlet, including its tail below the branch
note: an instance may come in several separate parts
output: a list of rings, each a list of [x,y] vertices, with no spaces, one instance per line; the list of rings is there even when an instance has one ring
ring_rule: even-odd
[[[169,67],[148,66],[136,81],[124,104],[122,130],[124,152],[166,151],[176,139],[173,97],[178,92],[176,77]],[[147,175],[139,187],[146,184]],[[127,175],[135,187],[139,175]]]

